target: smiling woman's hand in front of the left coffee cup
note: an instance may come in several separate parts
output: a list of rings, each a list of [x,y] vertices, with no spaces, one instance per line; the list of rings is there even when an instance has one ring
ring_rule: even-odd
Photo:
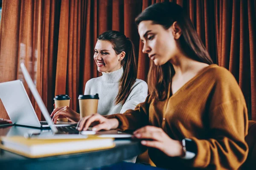
[[[80,120],[80,114],[76,113],[75,111],[73,111],[72,109],[70,109],[70,107],[68,106],[64,106],[64,107],[59,107],[59,108],[55,108],[52,111],[51,114],[52,117],[52,121],[54,123],[57,122],[57,119],[60,117],[66,117],[67,119],[69,119],[71,122],[78,122]]]

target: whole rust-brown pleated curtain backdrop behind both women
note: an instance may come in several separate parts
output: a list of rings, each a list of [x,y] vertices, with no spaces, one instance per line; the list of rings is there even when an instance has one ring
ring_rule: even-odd
[[[23,60],[49,112],[57,94],[68,94],[70,107],[77,111],[77,97],[84,93],[85,83],[101,75],[93,60],[96,37],[111,29],[134,42],[138,78],[146,80],[149,58],[142,53],[134,19],[146,7],[163,1],[4,0],[0,82],[23,79],[19,70]],[[256,0],[169,1],[183,6],[213,61],[236,77],[249,117],[256,120]],[[41,119],[37,107],[36,112]],[[8,118],[2,104],[0,117]]]

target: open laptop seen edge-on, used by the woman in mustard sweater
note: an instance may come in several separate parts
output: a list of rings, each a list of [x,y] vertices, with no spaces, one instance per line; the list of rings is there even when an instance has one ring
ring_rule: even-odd
[[[63,134],[69,134],[69,135],[71,134],[71,135],[73,135],[73,138],[76,138],[76,136],[74,136],[74,134],[79,134],[79,136],[96,134],[99,137],[112,137],[112,138],[130,138],[132,136],[129,133],[124,133],[124,132],[120,132],[117,130],[95,132],[92,130],[78,131],[78,130],[76,130],[76,127],[55,127],[55,125],[52,122],[51,117],[49,116],[47,108],[45,107],[44,102],[41,99],[41,96],[39,95],[39,93],[35,87],[35,84],[33,83],[32,79],[29,75],[29,72],[26,69],[26,66],[23,63],[20,63],[20,67],[21,67],[23,76],[26,80],[26,83],[28,84],[29,89],[35,98],[35,101],[37,102],[41,112],[44,115],[45,120],[47,121],[48,125],[50,126],[50,128],[55,136],[59,135],[62,137]],[[49,132],[49,133],[51,133],[51,132]],[[28,137],[31,137],[32,135],[33,135],[33,133],[31,133],[31,135]],[[37,135],[37,134],[35,134],[35,135]],[[45,133],[40,133],[40,135],[44,138],[48,134],[47,134],[47,132],[45,132]],[[67,137],[67,138],[69,138],[69,137]]]

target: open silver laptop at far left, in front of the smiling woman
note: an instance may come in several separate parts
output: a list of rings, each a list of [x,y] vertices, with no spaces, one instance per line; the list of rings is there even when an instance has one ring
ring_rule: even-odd
[[[47,122],[39,122],[29,96],[20,80],[0,83],[0,99],[13,124],[49,127]],[[55,126],[76,126],[76,123],[58,122]]]

